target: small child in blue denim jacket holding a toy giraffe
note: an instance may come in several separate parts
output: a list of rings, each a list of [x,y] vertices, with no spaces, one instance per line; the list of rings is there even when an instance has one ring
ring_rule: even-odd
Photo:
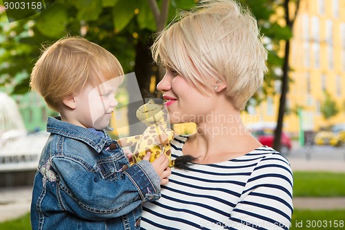
[[[79,37],[47,48],[30,86],[61,117],[49,117],[50,137],[34,178],[32,229],[139,229],[141,204],[160,198],[168,158],[128,159],[104,128],[117,102],[123,70],[110,52]]]

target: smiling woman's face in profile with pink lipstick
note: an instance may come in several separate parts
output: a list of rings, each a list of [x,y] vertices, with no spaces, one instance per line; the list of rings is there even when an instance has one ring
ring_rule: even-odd
[[[157,89],[164,93],[172,124],[204,122],[213,113],[215,93],[201,94],[192,82],[175,70],[167,69]],[[210,91],[210,88],[204,87],[204,90]]]

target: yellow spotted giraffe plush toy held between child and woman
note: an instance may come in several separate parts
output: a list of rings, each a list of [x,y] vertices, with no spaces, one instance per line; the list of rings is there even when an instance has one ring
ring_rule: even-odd
[[[138,108],[137,117],[147,126],[144,133],[117,140],[121,147],[135,146],[131,164],[143,160],[146,153],[151,152],[150,162],[159,155],[165,154],[169,159],[169,166],[174,166],[175,162],[171,161],[170,141],[175,134],[168,128],[168,113],[164,105],[156,104],[150,99],[148,103]]]

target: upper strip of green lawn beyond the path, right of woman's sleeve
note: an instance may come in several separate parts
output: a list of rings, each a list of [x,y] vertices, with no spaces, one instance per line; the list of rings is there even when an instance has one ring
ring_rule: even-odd
[[[295,197],[345,196],[345,173],[293,172]]]

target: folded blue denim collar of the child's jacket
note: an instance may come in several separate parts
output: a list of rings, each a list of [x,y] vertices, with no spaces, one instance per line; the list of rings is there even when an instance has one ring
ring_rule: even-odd
[[[88,128],[76,126],[68,122],[62,122],[61,117],[48,117],[47,132],[59,134],[64,137],[69,137],[85,142],[86,144],[94,148],[97,153],[101,152],[107,142],[106,138],[101,137],[99,134],[91,131]]]

